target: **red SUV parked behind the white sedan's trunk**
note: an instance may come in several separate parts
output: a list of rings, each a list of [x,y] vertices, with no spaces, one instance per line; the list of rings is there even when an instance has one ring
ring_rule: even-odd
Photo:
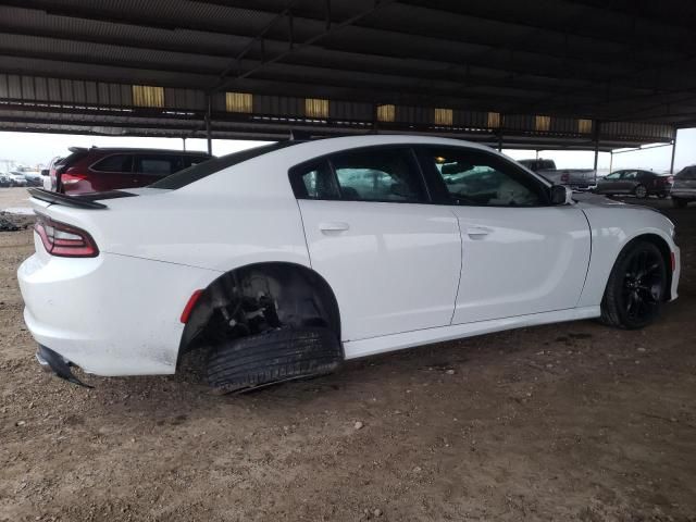
[[[51,190],[57,192],[145,187],[212,158],[206,152],[162,149],[71,147],[69,150],[71,154],[50,169]]]

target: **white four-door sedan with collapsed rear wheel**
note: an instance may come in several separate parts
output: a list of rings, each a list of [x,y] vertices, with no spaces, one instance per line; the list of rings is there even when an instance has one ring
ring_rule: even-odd
[[[209,351],[223,390],[343,360],[601,318],[639,328],[676,298],[672,223],[574,201],[478,145],[422,136],[279,142],[148,188],[30,189],[18,270],[45,368],[172,374]]]

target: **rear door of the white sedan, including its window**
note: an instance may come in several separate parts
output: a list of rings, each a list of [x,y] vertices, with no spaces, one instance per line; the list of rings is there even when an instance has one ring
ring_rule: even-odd
[[[333,288],[343,340],[450,324],[461,268],[452,212],[428,204],[408,147],[291,170],[312,269]]]

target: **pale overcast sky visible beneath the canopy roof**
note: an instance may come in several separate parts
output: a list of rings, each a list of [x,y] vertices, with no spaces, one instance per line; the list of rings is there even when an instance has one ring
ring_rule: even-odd
[[[213,154],[224,156],[238,150],[262,145],[262,141],[213,140]],[[7,160],[25,165],[48,164],[51,158],[65,156],[69,147],[148,147],[181,149],[179,138],[137,138],[111,136],[83,136],[62,134],[2,133],[0,132],[0,170],[7,170]],[[187,139],[187,150],[206,150],[204,139]],[[515,160],[534,158],[534,150],[504,150]],[[644,149],[635,152],[614,154],[612,169],[652,169],[668,171],[671,147]],[[589,151],[540,151],[539,158],[556,161],[559,169],[591,169],[594,152]],[[676,135],[675,172],[696,163],[696,128],[680,129]],[[599,170],[609,169],[609,153],[599,154]]]

